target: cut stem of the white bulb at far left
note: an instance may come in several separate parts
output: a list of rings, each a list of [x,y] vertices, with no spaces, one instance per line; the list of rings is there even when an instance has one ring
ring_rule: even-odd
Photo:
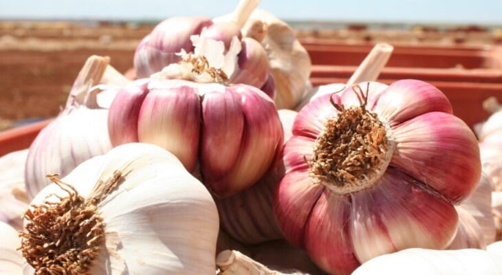
[[[110,63],[108,56],[91,56],[85,61],[85,65],[74,82],[72,91],[68,96],[66,107],[72,107],[75,103],[85,104],[85,98],[91,87],[98,85]]]

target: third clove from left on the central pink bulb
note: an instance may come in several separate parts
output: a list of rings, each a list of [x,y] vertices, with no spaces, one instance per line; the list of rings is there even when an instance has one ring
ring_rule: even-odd
[[[204,94],[200,162],[210,181],[229,173],[239,157],[245,122],[240,101],[241,98],[230,91]]]

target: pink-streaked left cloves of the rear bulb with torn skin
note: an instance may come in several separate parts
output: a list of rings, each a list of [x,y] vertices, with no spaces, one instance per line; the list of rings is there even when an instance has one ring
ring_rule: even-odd
[[[171,17],[159,23],[142,39],[134,54],[134,67],[138,78],[159,72],[166,65],[177,63],[176,53],[182,49],[193,52],[190,36],[200,34],[212,21],[204,17]]]

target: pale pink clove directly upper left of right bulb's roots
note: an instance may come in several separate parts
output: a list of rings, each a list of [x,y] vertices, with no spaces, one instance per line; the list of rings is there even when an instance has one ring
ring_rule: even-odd
[[[307,104],[296,116],[293,128],[294,135],[305,135],[314,139],[318,137],[324,130],[326,121],[338,114],[333,105],[326,104],[327,100],[333,100],[335,104],[341,102],[338,95],[326,94]]]

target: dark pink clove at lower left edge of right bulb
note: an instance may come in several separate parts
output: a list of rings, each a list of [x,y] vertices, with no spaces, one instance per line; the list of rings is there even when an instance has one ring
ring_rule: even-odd
[[[281,180],[274,196],[274,213],[286,239],[305,247],[305,227],[316,201],[323,194],[322,184],[312,184],[308,170],[295,170]]]

